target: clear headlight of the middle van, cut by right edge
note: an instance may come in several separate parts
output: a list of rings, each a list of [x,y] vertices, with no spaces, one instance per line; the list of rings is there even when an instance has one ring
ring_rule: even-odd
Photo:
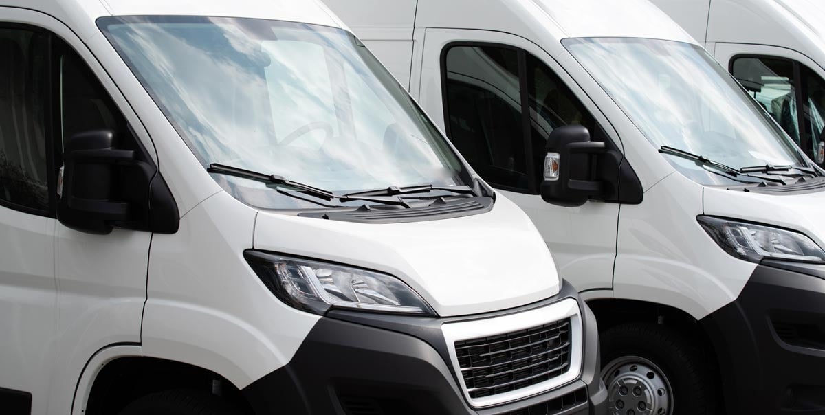
[[[825,263],[825,252],[803,233],[736,220],[699,216],[699,223],[725,251],[745,261],[778,259]]]

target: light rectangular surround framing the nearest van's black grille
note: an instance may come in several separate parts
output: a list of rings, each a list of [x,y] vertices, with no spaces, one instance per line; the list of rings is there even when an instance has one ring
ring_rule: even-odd
[[[533,384],[521,389],[515,389],[502,394],[473,398],[469,395],[467,384],[461,376],[461,366],[458,356],[455,353],[455,342],[472,340],[479,337],[491,337],[528,328],[535,328],[544,324],[560,322],[566,318],[570,319],[570,364],[568,370],[560,375],[545,380],[539,384]],[[486,408],[502,403],[510,403],[522,398],[542,394],[552,389],[559,388],[573,380],[577,380],[582,374],[582,352],[584,334],[582,329],[582,315],[575,299],[563,299],[558,303],[549,304],[539,309],[531,309],[521,313],[507,314],[494,318],[481,318],[478,320],[464,321],[458,323],[446,323],[441,326],[447,349],[450,352],[450,363],[453,365],[455,373],[460,383],[464,398],[467,399],[473,408]]]

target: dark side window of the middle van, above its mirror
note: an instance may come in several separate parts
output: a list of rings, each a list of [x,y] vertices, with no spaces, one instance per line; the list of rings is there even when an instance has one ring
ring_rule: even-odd
[[[493,185],[537,193],[545,146],[554,129],[584,125],[594,139],[601,135],[573,92],[523,50],[448,46],[443,64],[450,140]]]

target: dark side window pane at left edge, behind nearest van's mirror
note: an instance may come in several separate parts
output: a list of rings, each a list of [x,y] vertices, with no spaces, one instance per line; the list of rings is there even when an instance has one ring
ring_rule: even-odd
[[[50,207],[46,159],[48,35],[0,28],[0,200]]]

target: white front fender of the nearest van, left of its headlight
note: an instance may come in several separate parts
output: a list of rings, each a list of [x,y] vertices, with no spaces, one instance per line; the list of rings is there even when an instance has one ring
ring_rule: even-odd
[[[320,317],[276,299],[243,259],[256,215],[221,191],[177,233],[154,235],[144,356],[212,370],[238,389],[290,361]]]

